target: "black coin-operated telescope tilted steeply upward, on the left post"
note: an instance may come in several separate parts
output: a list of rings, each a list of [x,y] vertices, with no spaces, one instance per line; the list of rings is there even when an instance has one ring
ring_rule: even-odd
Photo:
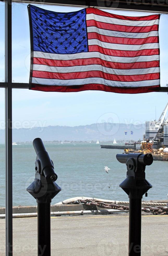
[[[51,200],[61,191],[55,183],[57,174],[44,144],[40,138],[33,141],[37,154],[35,161],[35,179],[26,189],[38,205],[38,255],[51,255]]]

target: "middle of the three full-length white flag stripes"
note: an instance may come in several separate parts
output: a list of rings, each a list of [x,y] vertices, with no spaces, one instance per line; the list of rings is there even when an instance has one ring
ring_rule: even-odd
[[[73,67],[53,67],[47,65],[34,64],[33,70],[36,71],[46,71],[53,73],[71,73],[71,72],[87,72],[87,71],[102,71],[108,74],[114,75],[142,75],[142,74],[152,74],[159,73],[159,67],[153,68],[139,68],[139,69],[113,69],[107,68],[101,65],[86,65],[86,66],[73,66]]]

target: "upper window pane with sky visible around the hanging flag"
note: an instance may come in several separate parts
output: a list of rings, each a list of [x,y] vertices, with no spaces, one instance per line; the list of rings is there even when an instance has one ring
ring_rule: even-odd
[[[61,7],[61,6],[51,6],[51,5],[37,5],[41,8],[47,10],[53,10],[58,12],[70,12],[77,11],[82,8],[75,7]],[[104,10],[105,11],[105,10]],[[126,16],[145,16],[151,13],[141,13],[141,12],[129,12],[129,11],[115,11],[107,10],[110,13],[126,15]],[[19,17],[19,18],[18,18]],[[28,83],[29,82],[29,72],[30,72],[30,33],[29,33],[29,20],[27,4],[13,3],[12,4],[12,65],[13,65],[13,82]],[[159,25],[159,38],[160,38],[160,79],[161,86],[166,86],[167,82],[167,71],[166,67],[168,64],[168,49],[166,47],[168,34],[165,33],[168,26],[167,15],[160,16]],[[19,29],[18,29],[19,27]]]

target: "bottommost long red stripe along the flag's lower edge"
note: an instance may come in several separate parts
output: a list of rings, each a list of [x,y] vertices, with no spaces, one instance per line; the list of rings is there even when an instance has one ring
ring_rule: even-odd
[[[54,85],[39,85],[32,84],[31,90],[37,91],[53,91],[53,92],[78,92],[78,91],[106,91],[106,92],[116,92],[116,93],[145,93],[158,91],[160,85],[156,86],[146,86],[146,87],[131,87],[131,88],[122,88],[122,87],[112,87],[103,84],[85,84],[85,85],[76,85],[76,86],[54,86]]]

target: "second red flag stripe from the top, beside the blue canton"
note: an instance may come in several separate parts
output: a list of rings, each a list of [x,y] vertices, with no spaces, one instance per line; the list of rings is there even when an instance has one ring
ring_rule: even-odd
[[[86,20],[87,27],[97,27],[105,30],[120,31],[120,32],[131,32],[131,33],[146,33],[150,31],[158,31],[158,25],[135,27],[135,26],[123,26],[116,24],[109,24],[105,22],[99,22],[96,20]]]

